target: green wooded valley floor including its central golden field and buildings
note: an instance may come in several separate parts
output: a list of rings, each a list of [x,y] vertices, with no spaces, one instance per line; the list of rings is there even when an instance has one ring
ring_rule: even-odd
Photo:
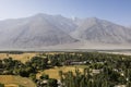
[[[131,87],[131,55],[39,52],[26,62],[9,55],[0,59],[0,76],[8,75],[32,79],[36,87]],[[5,84],[0,80],[0,87]]]

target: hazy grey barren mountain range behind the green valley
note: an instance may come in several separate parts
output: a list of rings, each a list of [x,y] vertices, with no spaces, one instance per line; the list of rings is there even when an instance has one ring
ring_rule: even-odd
[[[2,49],[94,49],[104,45],[130,48],[130,28],[96,17],[72,20],[40,13],[0,21]]]

